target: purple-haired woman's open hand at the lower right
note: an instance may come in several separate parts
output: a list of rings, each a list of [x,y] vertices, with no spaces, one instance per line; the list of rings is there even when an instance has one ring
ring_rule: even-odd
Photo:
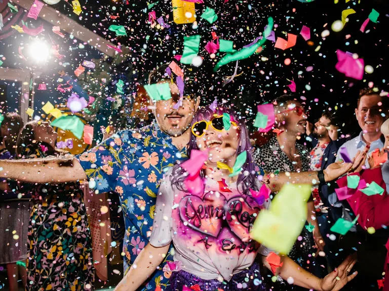
[[[353,280],[357,276],[358,272],[350,274],[357,262],[353,256],[348,256],[339,267],[335,268],[333,272],[320,279],[320,286],[323,291],[337,291],[340,290],[345,284]]]

